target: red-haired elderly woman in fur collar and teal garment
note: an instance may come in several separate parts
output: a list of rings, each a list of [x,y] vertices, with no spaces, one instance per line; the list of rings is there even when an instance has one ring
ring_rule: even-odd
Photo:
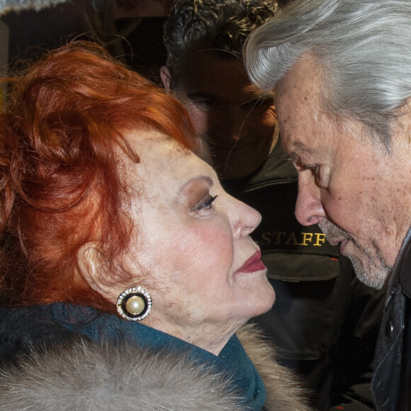
[[[86,43],[9,81],[0,409],[305,410],[239,331],[274,302],[260,216],[193,154],[184,108]]]

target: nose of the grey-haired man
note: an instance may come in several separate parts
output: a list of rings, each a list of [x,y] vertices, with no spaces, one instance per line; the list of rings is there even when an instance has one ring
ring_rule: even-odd
[[[295,217],[302,225],[313,225],[325,220],[320,188],[308,171],[298,174],[298,198],[295,204]]]

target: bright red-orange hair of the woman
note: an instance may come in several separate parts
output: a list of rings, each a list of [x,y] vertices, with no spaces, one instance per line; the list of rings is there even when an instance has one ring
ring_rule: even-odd
[[[188,114],[94,43],[65,45],[6,80],[10,91],[0,114],[4,300],[113,310],[75,273],[77,252],[87,242],[98,242],[108,261],[128,247],[116,146],[128,150],[125,130],[154,129],[192,148]]]

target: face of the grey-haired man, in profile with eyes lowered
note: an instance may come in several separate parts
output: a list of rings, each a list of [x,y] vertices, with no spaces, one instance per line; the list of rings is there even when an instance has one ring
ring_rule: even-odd
[[[410,145],[405,122],[393,129],[392,152],[361,123],[321,109],[321,70],[311,55],[278,84],[281,139],[298,170],[295,215],[318,223],[353,262],[361,281],[381,288],[410,228]]]

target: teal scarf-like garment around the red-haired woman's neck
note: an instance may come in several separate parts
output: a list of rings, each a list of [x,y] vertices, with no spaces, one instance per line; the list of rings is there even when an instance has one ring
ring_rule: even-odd
[[[233,335],[220,354],[215,356],[179,338],[147,327],[142,322],[123,320],[118,315],[101,313],[94,308],[54,303],[44,305],[43,313],[53,322],[79,332],[97,344],[118,344],[124,341],[147,349],[184,351],[193,362],[210,366],[218,373],[225,373],[230,378],[232,388],[242,393],[249,410],[261,411],[264,406],[264,383],[236,335]]]

